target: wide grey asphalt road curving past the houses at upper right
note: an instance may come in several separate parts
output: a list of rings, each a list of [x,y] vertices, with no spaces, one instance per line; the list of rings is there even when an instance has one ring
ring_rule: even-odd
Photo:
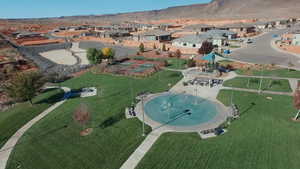
[[[280,52],[271,46],[271,41],[273,40],[274,34],[282,35],[287,31],[297,28],[300,28],[300,26],[297,25],[289,29],[273,30],[268,32],[264,35],[254,38],[253,43],[249,44],[247,47],[233,51],[228,57],[244,62],[259,64],[274,63],[282,66],[288,66],[288,63],[292,62],[295,65],[295,68],[300,68],[299,56],[297,57],[292,54]]]

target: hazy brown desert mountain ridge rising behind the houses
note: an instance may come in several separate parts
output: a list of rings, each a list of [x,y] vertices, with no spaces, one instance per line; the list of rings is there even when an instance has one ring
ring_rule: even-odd
[[[162,10],[101,16],[79,16],[77,19],[159,20],[179,18],[286,18],[300,17],[300,0],[213,0],[207,4],[171,7]],[[69,18],[69,17],[65,17]]]

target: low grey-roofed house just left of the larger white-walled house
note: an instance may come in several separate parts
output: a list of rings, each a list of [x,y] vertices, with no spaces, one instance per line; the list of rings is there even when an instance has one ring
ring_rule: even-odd
[[[133,37],[136,41],[170,41],[171,40],[171,33],[162,30],[151,30],[144,33],[140,33]]]

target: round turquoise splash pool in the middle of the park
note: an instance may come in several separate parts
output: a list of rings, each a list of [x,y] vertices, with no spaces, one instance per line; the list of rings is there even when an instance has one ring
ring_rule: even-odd
[[[172,126],[193,126],[214,119],[217,105],[186,94],[164,94],[146,102],[145,113],[154,121]]]

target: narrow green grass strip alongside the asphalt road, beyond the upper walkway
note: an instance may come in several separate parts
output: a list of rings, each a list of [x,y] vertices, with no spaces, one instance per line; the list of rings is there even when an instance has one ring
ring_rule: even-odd
[[[300,71],[288,70],[288,69],[275,69],[275,70],[264,70],[263,73],[260,70],[252,70],[251,75],[253,76],[276,76],[286,78],[300,78]],[[237,74],[246,75],[247,71],[244,69],[236,70]]]

